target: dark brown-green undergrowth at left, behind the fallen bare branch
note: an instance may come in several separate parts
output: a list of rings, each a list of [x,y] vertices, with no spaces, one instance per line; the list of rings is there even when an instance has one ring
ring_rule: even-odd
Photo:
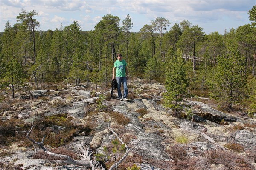
[[[45,116],[34,122],[34,127],[30,133],[30,137],[35,141],[41,141],[45,136],[44,144],[52,147],[59,147],[72,141],[73,137],[89,134],[90,127],[73,125],[67,119],[66,114]],[[10,119],[0,124],[0,144],[11,145],[13,142],[23,141],[19,146],[29,147],[32,143],[25,138],[26,133],[18,133],[16,131],[29,131],[30,124],[17,119]]]

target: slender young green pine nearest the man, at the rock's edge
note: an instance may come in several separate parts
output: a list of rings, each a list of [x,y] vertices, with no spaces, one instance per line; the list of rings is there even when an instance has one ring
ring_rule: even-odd
[[[178,102],[186,96],[186,88],[188,87],[188,79],[186,77],[185,62],[181,58],[181,51],[177,50],[177,58],[172,59],[169,63],[169,70],[166,73],[165,88],[163,94],[165,99],[164,106],[179,109],[181,105]]]

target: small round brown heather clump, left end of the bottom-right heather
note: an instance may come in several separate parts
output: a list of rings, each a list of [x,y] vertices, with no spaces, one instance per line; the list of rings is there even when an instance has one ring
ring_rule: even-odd
[[[166,150],[166,152],[175,162],[178,160],[184,160],[187,157],[187,152],[184,147],[178,144],[170,147],[170,149]]]

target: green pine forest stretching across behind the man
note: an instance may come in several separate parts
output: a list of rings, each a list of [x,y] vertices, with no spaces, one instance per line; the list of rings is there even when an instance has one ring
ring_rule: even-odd
[[[177,108],[180,98],[198,96],[214,99],[225,111],[256,113],[256,6],[248,11],[251,24],[223,35],[162,17],[133,32],[129,14],[122,21],[106,14],[91,31],[81,30],[77,21],[41,31],[36,15],[22,10],[17,23],[8,21],[0,34],[0,88],[9,88],[12,97],[29,82],[36,88],[39,83],[109,88],[121,53],[129,81],[165,84],[166,106]]]

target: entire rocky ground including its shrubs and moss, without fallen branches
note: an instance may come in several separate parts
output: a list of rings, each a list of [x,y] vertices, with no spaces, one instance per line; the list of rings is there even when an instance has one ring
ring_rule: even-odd
[[[1,92],[6,101],[0,103],[0,169],[90,169],[73,166],[34,148],[26,133],[20,133],[28,131],[33,121],[32,139],[40,142],[45,135],[44,146],[48,150],[81,161],[81,143],[95,153],[114,156],[111,149],[116,136],[111,128],[130,149],[117,168],[120,170],[133,164],[140,170],[256,169],[253,115],[231,115],[205,104],[209,103],[207,99],[189,99],[184,112],[174,116],[162,105],[164,86],[141,79],[128,83],[128,101],[111,99],[108,90],[53,86],[20,91],[9,100],[10,95]],[[107,96],[102,102],[101,94]],[[114,94],[117,95],[116,90]],[[117,148],[119,160],[125,149],[120,145]],[[105,169],[113,164],[107,156],[101,160]]]

